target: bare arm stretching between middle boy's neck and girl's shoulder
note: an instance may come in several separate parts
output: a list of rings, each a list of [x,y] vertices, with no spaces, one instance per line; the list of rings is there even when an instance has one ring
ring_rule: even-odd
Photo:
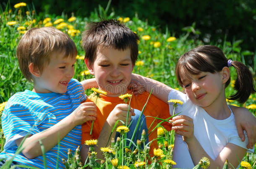
[[[147,92],[150,92],[152,90],[152,94],[154,94],[154,96],[167,103],[168,95],[172,90],[172,88],[170,88],[169,86],[154,79],[146,78],[138,74],[132,74],[132,80],[138,81],[140,85],[144,86]]]

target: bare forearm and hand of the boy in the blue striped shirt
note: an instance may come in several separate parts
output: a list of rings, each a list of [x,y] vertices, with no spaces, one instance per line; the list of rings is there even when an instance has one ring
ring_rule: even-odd
[[[75,126],[89,120],[95,120],[96,116],[96,106],[94,103],[82,103],[75,111],[54,126],[40,133],[29,135],[22,144],[22,148],[24,148],[22,153],[29,159],[40,156],[42,155],[42,150],[39,140],[41,140],[44,146],[44,151],[47,152],[56,146],[58,141],[63,139]],[[16,140],[18,146],[23,138]]]

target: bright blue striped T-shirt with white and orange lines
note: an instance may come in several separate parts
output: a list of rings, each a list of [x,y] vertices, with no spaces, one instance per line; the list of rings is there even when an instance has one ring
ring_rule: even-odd
[[[57,124],[71,114],[86,100],[84,88],[76,79],[68,83],[66,93],[34,93],[29,90],[18,92],[8,100],[2,114],[2,127],[6,138],[4,150],[0,158],[10,159],[18,149],[15,140],[27,134],[37,134]],[[68,149],[72,152],[81,144],[81,125],[73,128],[59,145],[45,153],[47,168],[65,168],[62,159],[67,160]],[[44,168],[44,157],[27,159],[22,153],[15,156],[14,161],[27,166]]]

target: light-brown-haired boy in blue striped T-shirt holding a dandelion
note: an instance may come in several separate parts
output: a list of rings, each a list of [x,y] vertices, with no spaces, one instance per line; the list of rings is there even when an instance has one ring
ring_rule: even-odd
[[[76,55],[73,40],[56,28],[32,28],[23,35],[18,62],[34,87],[14,94],[5,106],[0,166],[13,158],[11,165],[65,168],[61,159],[67,160],[68,149],[74,152],[80,146],[81,124],[97,117],[94,103],[81,104],[87,96],[73,79]],[[19,146],[22,151],[16,154]]]

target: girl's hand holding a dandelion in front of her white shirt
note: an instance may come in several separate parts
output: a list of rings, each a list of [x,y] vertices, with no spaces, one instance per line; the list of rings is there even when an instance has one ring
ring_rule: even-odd
[[[185,115],[180,115],[173,117],[172,122],[172,130],[175,130],[176,134],[182,135],[185,142],[194,139],[193,119]]]

